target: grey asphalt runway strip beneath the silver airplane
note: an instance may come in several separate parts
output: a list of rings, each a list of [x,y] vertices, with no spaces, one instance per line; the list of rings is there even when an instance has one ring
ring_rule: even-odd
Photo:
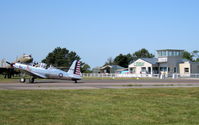
[[[199,79],[131,79],[131,80],[36,80],[30,83],[1,83],[0,90],[65,90],[199,87]]]

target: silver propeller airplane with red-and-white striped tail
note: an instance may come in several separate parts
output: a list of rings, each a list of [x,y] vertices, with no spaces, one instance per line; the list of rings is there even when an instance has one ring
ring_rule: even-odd
[[[27,65],[22,63],[9,63],[13,68],[19,69],[22,72],[32,76],[29,79],[29,83],[34,83],[36,78],[43,79],[60,79],[60,80],[73,80],[77,83],[78,80],[81,80],[80,72],[80,61],[74,61],[71,65],[68,72],[57,69],[53,66],[47,67],[45,63],[40,63],[37,65]],[[25,77],[20,78],[20,82],[26,82]]]

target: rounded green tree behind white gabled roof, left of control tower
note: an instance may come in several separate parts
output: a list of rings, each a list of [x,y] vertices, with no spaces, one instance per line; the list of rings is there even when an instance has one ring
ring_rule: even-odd
[[[145,48],[133,53],[133,60],[136,60],[138,58],[153,58],[153,57],[154,55],[152,53],[149,53],[149,51]]]

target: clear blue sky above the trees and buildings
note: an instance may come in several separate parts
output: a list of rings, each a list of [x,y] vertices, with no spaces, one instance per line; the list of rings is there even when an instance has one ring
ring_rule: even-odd
[[[199,0],[1,0],[0,59],[56,47],[92,68],[141,48],[199,50]]]

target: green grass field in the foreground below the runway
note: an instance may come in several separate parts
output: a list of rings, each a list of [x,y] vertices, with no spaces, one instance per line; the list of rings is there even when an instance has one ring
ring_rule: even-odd
[[[198,125],[199,88],[2,90],[0,125]]]

